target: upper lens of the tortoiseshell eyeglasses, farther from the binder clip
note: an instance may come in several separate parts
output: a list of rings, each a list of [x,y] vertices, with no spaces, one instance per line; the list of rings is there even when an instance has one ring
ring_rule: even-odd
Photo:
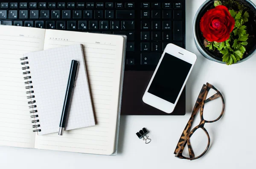
[[[204,104],[204,120],[216,120],[221,115],[222,107],[223,105],[221,97],[214,89],[210,89],[207,95],[206,103]]]

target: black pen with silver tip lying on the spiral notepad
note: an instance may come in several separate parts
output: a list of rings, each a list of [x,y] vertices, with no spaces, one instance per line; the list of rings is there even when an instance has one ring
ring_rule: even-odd
[[[72,60],[70,73],[67,81],[67,90],[66,90],[64,104],[63,104],[62,113],[61,113],[61,122],[60,122],[60,129],[59,129],[58,135],[63,135],[63,132],[64,132],[67,113],[68,113],[67,110],[68,110],[70,98],[71,98],[71,92],[76,82],[77,68],[78,68],[78,62],[76,60]]]

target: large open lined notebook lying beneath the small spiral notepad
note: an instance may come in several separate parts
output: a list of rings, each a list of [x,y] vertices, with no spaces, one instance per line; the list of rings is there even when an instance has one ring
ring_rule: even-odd
[[[32,132],[23,54],[82,44],[96,126]],[[126,37],[0,25],[0,145],[110,155],[116,152]],[[25,99],[24,99],[25,98]]]

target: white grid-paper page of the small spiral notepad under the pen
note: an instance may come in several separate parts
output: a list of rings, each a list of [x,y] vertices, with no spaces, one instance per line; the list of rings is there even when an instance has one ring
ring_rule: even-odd
[[[71,60],[79,62],[72,90],[65,130],[94,126],[95,120],[81,45],[25,54],[28,57],[36,109],[40,124],[38,135],[58,132],[67,88]],[[55,133],[57,135],[57,133]]]

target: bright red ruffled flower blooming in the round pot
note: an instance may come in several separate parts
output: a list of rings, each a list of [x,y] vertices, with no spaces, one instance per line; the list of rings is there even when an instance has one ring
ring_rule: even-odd
[[[230,37],[235,25],[226,6],[216,6],[207,11],[200,21],[203,36],[210,42],[224,42]]]

